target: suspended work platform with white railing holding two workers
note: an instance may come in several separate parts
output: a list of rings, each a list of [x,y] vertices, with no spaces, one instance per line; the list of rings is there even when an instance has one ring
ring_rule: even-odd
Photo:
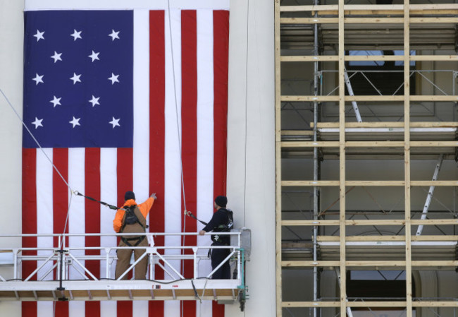
[[[249,259],[249,229],[223,232],[231,236],[230,246],[156,246],[154,237],[182,237],[197,233],[147,233],[146,252],[131,260],[130,267],[116,280],[118,246],[73,247],[68,241],[86,237],[113,237],[120,234],[23,234],[0,235],[0,240],[25,237],[55,239],[61,247],[0,249],[0,301],[101,301],[101,300],[216,300],[225,304],[240,301],[245,304],[245,261]],[[140,234],[122,234],[123,236]],[[207,234],[209,235],[209,234]],[[209,237],[206,237],[208,239]],[[3,244],[4,245],[4,244]],[[145,249],[135,246],[129,249]],[[229,249],[223,263],[229,262],[232,279],[213,280],[218,268],[211,270],[209,251]],[[146,280],[123,280],[132,275],[135,265],[147,257]],[[27,266],[33,269],[24,274]],[[190,265],[192,276],[182,268]]]

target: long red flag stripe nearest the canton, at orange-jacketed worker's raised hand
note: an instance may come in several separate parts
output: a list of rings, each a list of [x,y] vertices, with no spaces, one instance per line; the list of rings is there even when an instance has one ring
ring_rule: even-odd
[[[156,193],[154,211],[149,216],[150,232],[165,232],[164,181],[166,119],[166,39],[164,11],[149,11],[149,191]],[[154,238],[164,245],[164,237]],[[163,253],[163,252],[162,252]],[[153,268],[154,269],[154,268]],[[155,278],[163,280],[163,271]],[[153,290],[154,292],[154,290]],[[163,316],[163,301],[149,301],[148,315]]]

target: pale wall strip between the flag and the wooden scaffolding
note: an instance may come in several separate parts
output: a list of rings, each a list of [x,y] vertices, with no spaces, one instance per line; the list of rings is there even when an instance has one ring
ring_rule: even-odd
[[[275,68],[273,1],[231,0],[228,205],[252,230],[245,316],[275,316]],[[226,316],[244,316],[226,305]]]

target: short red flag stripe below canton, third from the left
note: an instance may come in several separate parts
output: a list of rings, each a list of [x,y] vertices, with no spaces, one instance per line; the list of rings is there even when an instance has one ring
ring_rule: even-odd
[[[85,150],[85,194],[100,201],[100,148],[86,148]],[[100,204],[85,199],[85,232],[100,232]],[[86,246],[100,246],[100,237],[85,237]],[[86,255],[97,256],[99,250],[86,250]],[[100,277],[99,261],[85,262],[86,268]],[[90,277],[89,277],[90,278]],[[86,316],[100,316],[99,301],[85,301]]]

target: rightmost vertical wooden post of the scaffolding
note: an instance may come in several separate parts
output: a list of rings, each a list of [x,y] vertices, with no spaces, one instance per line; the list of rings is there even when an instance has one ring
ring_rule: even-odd
[[[406,237],[407,317],[412,317],[411,222],[410,222],[410,8],[404,0],[404,219]]]

